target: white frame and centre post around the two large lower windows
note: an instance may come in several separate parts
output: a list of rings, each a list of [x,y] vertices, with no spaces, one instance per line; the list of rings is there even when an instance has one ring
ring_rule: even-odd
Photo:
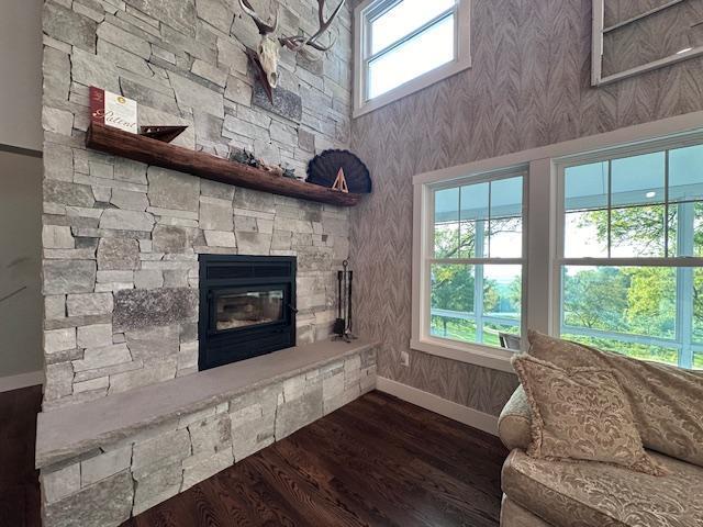
[[[703,112],[694,112],[651,123],[620,128],[558,143],[498,158],[451,167],[413,178],[413,267],[412,267],[412,349],[461,362],[513,371],[512,351],[479,344],[458,343],[433,337],[429,323],[429,273],[434,229],[434,189],[491,173],[527,168],[523,195],[523,349],[526,349],[526,328],[558,335],[560,329],[560,258],[562,240],[562,200],[559,195],[560,170],[567,164],[606,156],[635,155],[645,150],[665,149],[666,145],[703,143]],[[662,146],[665,145],[665,146]],[[610,259],[610,265],[613,259]],[[639,261],[639,260],[638,260]],[[691,266],[703,264],[701,258],[687,260]]]

